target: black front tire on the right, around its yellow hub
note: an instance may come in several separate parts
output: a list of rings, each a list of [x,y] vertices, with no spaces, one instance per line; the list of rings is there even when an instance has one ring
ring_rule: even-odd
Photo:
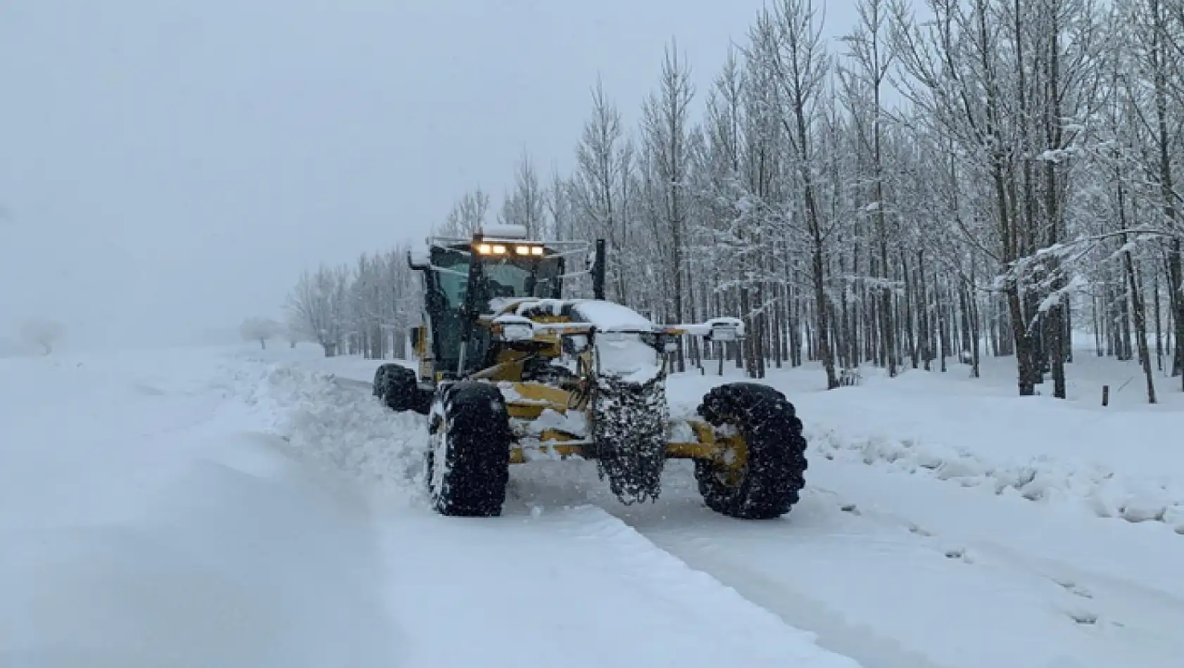
[[[699,414],[712,424],[735,428],[745,439],[747,463],[739,475],[710,460],[695,460],[703,502],[740,519],[773,519],[790,512],[805,487],[806,440],[785,395],[757,383],[728,383],[703,396]]]

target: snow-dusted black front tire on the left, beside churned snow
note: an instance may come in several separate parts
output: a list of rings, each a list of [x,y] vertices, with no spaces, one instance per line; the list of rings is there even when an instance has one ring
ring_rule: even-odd
[[[426,481],[436,512],[502,514],[514,439],[502,393],[476,381],[448,385],[437,393],[427,421]]]

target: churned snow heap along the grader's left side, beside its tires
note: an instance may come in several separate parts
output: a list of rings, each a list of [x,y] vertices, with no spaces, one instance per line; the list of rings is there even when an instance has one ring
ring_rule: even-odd
[[[423,417],[397,414],[332,375],[287,364],[234,371],[237,394],[296,459],[408,502],[419,500]]]

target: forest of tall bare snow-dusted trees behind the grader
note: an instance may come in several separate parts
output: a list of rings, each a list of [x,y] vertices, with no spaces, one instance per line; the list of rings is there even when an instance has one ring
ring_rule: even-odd
[[[742,317],[727,355],[752,377],[1011,356],[1021,395],[1063,398],[1092,332],[1150,401],[1184,385],[1184,0],[858,0],[835,43],[809,0],[772,5],[707,90],[671,44],[636,128],[596,82],[572,174],[523,154],[496,214],[477,189],[438,229],[604,238],[610,298]],[[401,355],[405,257],[304,275],[292,322]],[[684,345],[680,370],[719,355]]]

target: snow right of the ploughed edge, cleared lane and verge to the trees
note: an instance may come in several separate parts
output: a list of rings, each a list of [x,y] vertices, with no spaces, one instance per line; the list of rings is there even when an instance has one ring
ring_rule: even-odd
[[[1021,398],[1011,364],[835,391],[817,369],[771,371],[811,441],[804,498],[776,523],[704,510],[684,462],[641,506],[590,462],[515,467],[507,514],[601,508],[869,668],[1178,668],[1184,397],[1160,377],[1147,407],[1124,385],[1134,364],[1079,351],[1069,401]],[[676,410],[722,381],[708,369],[673,378]]]

